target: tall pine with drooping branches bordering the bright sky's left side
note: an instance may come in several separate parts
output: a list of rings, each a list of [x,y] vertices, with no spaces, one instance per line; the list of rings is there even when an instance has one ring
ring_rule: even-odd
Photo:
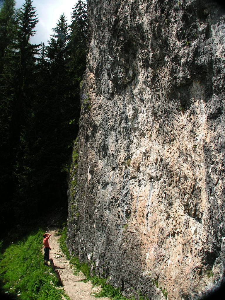
[[[26,0],[18,13],[18,30],[14,42],[7,48],[1,78],[1,96],[11,110],[11,134],[14,142],[19,139],[19,132],[26,117],[26,104],[32,98],[32,84],[35,55],[38,45],[32,45],[29,40],[35,34],[34,28],[38,20],[32,1]]]

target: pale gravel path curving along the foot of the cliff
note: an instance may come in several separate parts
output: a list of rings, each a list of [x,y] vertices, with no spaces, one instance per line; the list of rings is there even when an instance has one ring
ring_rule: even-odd
[[[94,292],[99,290],[99,287],[92,288],[91,282],[82,282],[85,279],[84,275],[80,272],[78,275],[73,274],[73,270],[66,256],[62,253],[59,247],[58,238],[56,235],[58,229],[50,227],[47,229],[48,233],[52,235],[49,238],[50,258],[53,259],[55,268],[58,270],[61,277],[64,291],[70,297],[71,300],[94,300],[96,299],[93,295]],[[44,245],[42,249],[44,255]],[[43,258],[44,260],[44,258]],[[44,262],[44,261],[43,261]],[[52,268],[46,267],[52,271]],[[98,298],[99,300],[110,300],[109,298]]]

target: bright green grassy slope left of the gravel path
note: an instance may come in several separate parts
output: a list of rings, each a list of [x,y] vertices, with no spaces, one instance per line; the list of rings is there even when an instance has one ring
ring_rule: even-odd
[[[44,266],[43,232],[39,229],[2,251],[0,283],[5,293],[22,300],[61,300],[55,274],[49,275]]]

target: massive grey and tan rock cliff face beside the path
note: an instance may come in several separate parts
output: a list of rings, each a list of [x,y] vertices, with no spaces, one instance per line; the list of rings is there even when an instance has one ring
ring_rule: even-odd
[[[67,245],[126,296],[200,298],[225,274],[225,13],[89,0],[88,15]]]

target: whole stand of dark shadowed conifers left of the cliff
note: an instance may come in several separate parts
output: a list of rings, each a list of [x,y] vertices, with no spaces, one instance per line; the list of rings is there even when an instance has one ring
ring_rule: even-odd
[[[33,45],[32,0],[0,8],[1,225],[67,203],[67,170],[78,133],[79,84],[85,70],[86,2],[64,14],[48,45]]]

